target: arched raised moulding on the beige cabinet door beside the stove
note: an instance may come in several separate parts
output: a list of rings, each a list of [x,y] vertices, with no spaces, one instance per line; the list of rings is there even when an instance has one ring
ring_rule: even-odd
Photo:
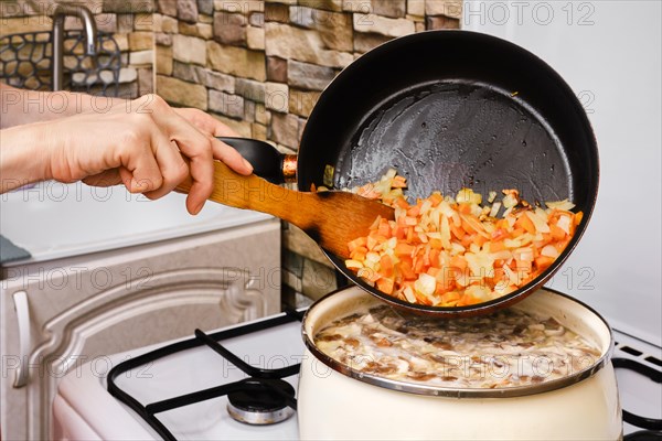
[[[229,275],[229,276],[228,276]],[[43,292],[28,292],[31,312]],[[13,295],[12,295],[13,298]],[[108,355],[212,330],[264,313],[260,291],[245,289],[239,271],[185,269],[154,276],[143,289],[116,288],[94,295],[47,323],[31,324],[30,352],[21,359],[21,326],[13,308],[3,306],[7,347],[3,356],[3,439],[46,439],[57,383],[87,362],[99,376],[108,372]],[[47,306],[46,306],[47,308]],[[24,325],[25,323],[21,323]],[[28,367],[26,384],[15,376]],[[21,427],[20,421],[26,426]],[[25,431],[26,430],[26,431]]]

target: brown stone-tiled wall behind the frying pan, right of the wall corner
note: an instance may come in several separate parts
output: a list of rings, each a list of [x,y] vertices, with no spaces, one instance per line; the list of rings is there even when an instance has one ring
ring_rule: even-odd
[[[459,0],[157,0],[157,93],[296,152],[320,93],[393,37],[459,26]],[[284,227],[284,295],[335,289],[319,248]]]

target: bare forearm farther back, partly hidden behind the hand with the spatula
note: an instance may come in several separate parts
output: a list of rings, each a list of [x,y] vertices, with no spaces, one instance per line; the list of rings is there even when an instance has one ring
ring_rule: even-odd
[[[64,90],[23,90],[0,83],[0,128],[49,121],[85,111],[105,112],[119,103],[126,100]]]

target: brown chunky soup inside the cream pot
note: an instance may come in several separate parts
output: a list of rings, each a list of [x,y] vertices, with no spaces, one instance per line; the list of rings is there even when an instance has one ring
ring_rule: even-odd
[[[449,388],[522,387],[590,367],[600,351],[551,316],[516,308],[440,321],[387,305],[332,322],[316,346],[362,374]]]

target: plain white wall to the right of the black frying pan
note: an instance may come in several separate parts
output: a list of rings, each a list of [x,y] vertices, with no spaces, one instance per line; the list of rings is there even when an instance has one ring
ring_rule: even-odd
[[[577,93],[600,151],[591,223],[549,284],[662,346],[662,2],[465,1],[462,26],[510,40]]]

